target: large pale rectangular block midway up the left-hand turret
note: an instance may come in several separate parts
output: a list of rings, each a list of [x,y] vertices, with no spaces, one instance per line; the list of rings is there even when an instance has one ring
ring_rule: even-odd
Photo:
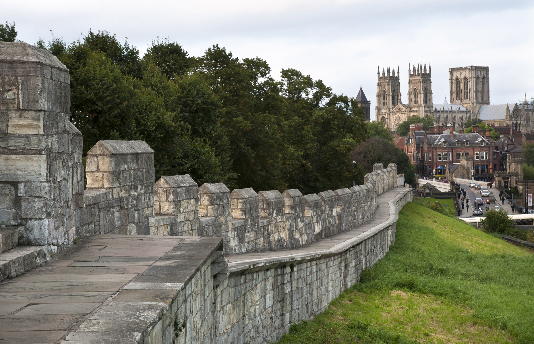
[[[0,181],[45,180],[45,155],[0,155]]]

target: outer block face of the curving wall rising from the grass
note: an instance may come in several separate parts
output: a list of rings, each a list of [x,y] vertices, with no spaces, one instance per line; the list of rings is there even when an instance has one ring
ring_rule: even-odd
[[[145,342],[277,342],[291,324],[323,312],[387,253],[395,242],[398,212],[411,200],[411,189],[403,190],[389,202],[386,222],[329,250],[230,263],[228,277],[213,279],[212,256],[146,331]]]

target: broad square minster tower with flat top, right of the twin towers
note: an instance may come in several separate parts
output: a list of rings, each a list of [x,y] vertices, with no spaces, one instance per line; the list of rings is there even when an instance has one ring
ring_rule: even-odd
[[[449,87],[451,104],[461,104],[475,116],[490,104],[490,67],[449,68]]]

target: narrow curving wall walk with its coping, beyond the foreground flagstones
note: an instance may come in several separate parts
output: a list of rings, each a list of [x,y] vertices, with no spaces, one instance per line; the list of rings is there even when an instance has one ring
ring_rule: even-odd
[[[398,212],[400,211],[396,203],[397,201],[399,201],[399,199],[402,199],[406,195],[409,195],[412,190],[413,189],[409,188],[397,188],[380,195],[382,196],[382,198],[388,197],[388,195],[394,196],[386,202],[389,205],[389,214],[380,215],[383,221],[378,225],[375,225],[372,228],[365,230],[363,233],[360,233],[350,239],[342,240],[339,243],[335,243],[336,236],[340,237],[341,234],[346,235],[347,232],[329,237],[329,242],[334,242],[334,244],[327,249],[313,250],[314,246],[321,245],[321,241],[319,241],[310,243],[304,247],[301,247],[300,249],[284,250],[283,252],[254,252],[227,255],[226,258],[229,258],[230,260],[228,264],[230,276],[264,269],[271,269],[276,266],[294,265],[296,263],[303,263],[310,260],[316,260],[322,257],[329,257],[347,251],[351,247],[354,247],[357,244],[372,237],[376,233],[379,233],[384,228],[387,228],[388,226],[391,226],[392,224],[396,223],[396,221],[398,220]],[[308,251],[306,250],[307,248]],[[265,257],[266,255],[268,255],[268,257]],[[240,258],[245,259],[240,260]]]

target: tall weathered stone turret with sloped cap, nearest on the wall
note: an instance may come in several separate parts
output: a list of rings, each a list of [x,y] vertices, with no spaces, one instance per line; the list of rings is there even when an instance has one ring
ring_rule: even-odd
[[[48,51],[0,42],[0,225],[19,245],[73,242],[83,204],[82,134],[68,69]]]

